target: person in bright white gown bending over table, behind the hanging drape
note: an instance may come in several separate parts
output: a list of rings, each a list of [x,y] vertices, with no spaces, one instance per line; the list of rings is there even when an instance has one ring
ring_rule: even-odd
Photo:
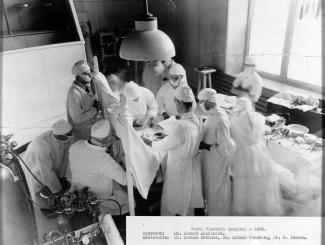
[[[133,81],[125,84],[123,94],[126,97],[128,112],[133,119],[133,126],[149,126],[157,117],[158,106],[154,94]]]

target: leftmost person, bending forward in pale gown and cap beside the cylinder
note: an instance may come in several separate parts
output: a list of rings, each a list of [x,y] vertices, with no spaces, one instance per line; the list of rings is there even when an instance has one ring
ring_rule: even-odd
[[[54,195],[69,188],[66,177],[68,171],[68,153],[72,139],[71,125],[61,119],[52,125],[52,129],[36,137],[28,145],[23,159],[37,180],[24,167],[24,172],[32,199],[43,208],[54,204],[51,195],[44,197],[47,188]],[[43,186],[39,183],[41,182]],[[49,194],[49,193],[45,193]]]

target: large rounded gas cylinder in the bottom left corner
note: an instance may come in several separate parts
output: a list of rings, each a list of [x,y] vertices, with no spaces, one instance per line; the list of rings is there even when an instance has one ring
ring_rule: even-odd
[[[1,178],[1,230],[3,245],[34,244],[35,224],[28,208],[25,195],[10,168],[0,164]]]

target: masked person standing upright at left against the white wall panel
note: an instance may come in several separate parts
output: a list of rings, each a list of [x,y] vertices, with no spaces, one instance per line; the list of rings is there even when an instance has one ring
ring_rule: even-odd
[[[80,60],[72,67],[75,81],[72,83],[66,100],[68,122],[74,128],[75,140],[87,139],[91,125],[97,120],[101,105],[95,100],[90,83],[93,76],[90,67]]]

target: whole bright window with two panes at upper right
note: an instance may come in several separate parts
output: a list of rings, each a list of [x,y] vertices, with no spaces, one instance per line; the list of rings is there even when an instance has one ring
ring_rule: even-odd
[[[266,78],[320,91],[320,0],[251,0],[247,52]]]

